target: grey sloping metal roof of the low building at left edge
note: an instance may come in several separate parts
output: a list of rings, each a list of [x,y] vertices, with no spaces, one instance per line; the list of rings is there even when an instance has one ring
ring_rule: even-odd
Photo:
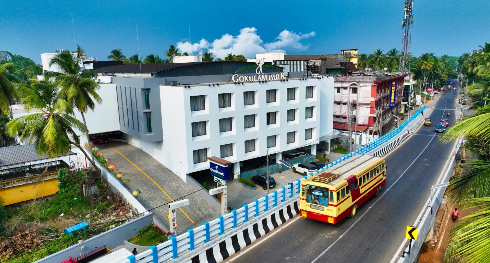
[[[67,154],[63,154],[58,157],[72,155],[72,154],[75,153],[73,153],[72,151],[68,151]],[[41,156],[39,156],[39,154],[37,154],[36,150],[34,149],[34,144],[23,144],[23,145],[0,148],[0,167],[13,165],[13,164],[39,161],[44,159],[49,159],[49,158],[44,153]]]

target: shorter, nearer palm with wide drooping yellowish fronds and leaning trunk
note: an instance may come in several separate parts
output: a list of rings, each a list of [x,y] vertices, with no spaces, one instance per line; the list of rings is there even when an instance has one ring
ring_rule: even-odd
[[[43,153],[49,158],[68,153],[70,145],[76,146],[85,154],[94,167],[97,167],[90,156],[80,146],[80,139],[73,129],[87,134],[86,126],[74,118],[73,108],[61,89],[52,82],[33,80],[31,87],[20,88],[21,103],[30,109],[42,112],[15,118],[7,123],[7,133],[21,140],[29,138],[39,155]]]

